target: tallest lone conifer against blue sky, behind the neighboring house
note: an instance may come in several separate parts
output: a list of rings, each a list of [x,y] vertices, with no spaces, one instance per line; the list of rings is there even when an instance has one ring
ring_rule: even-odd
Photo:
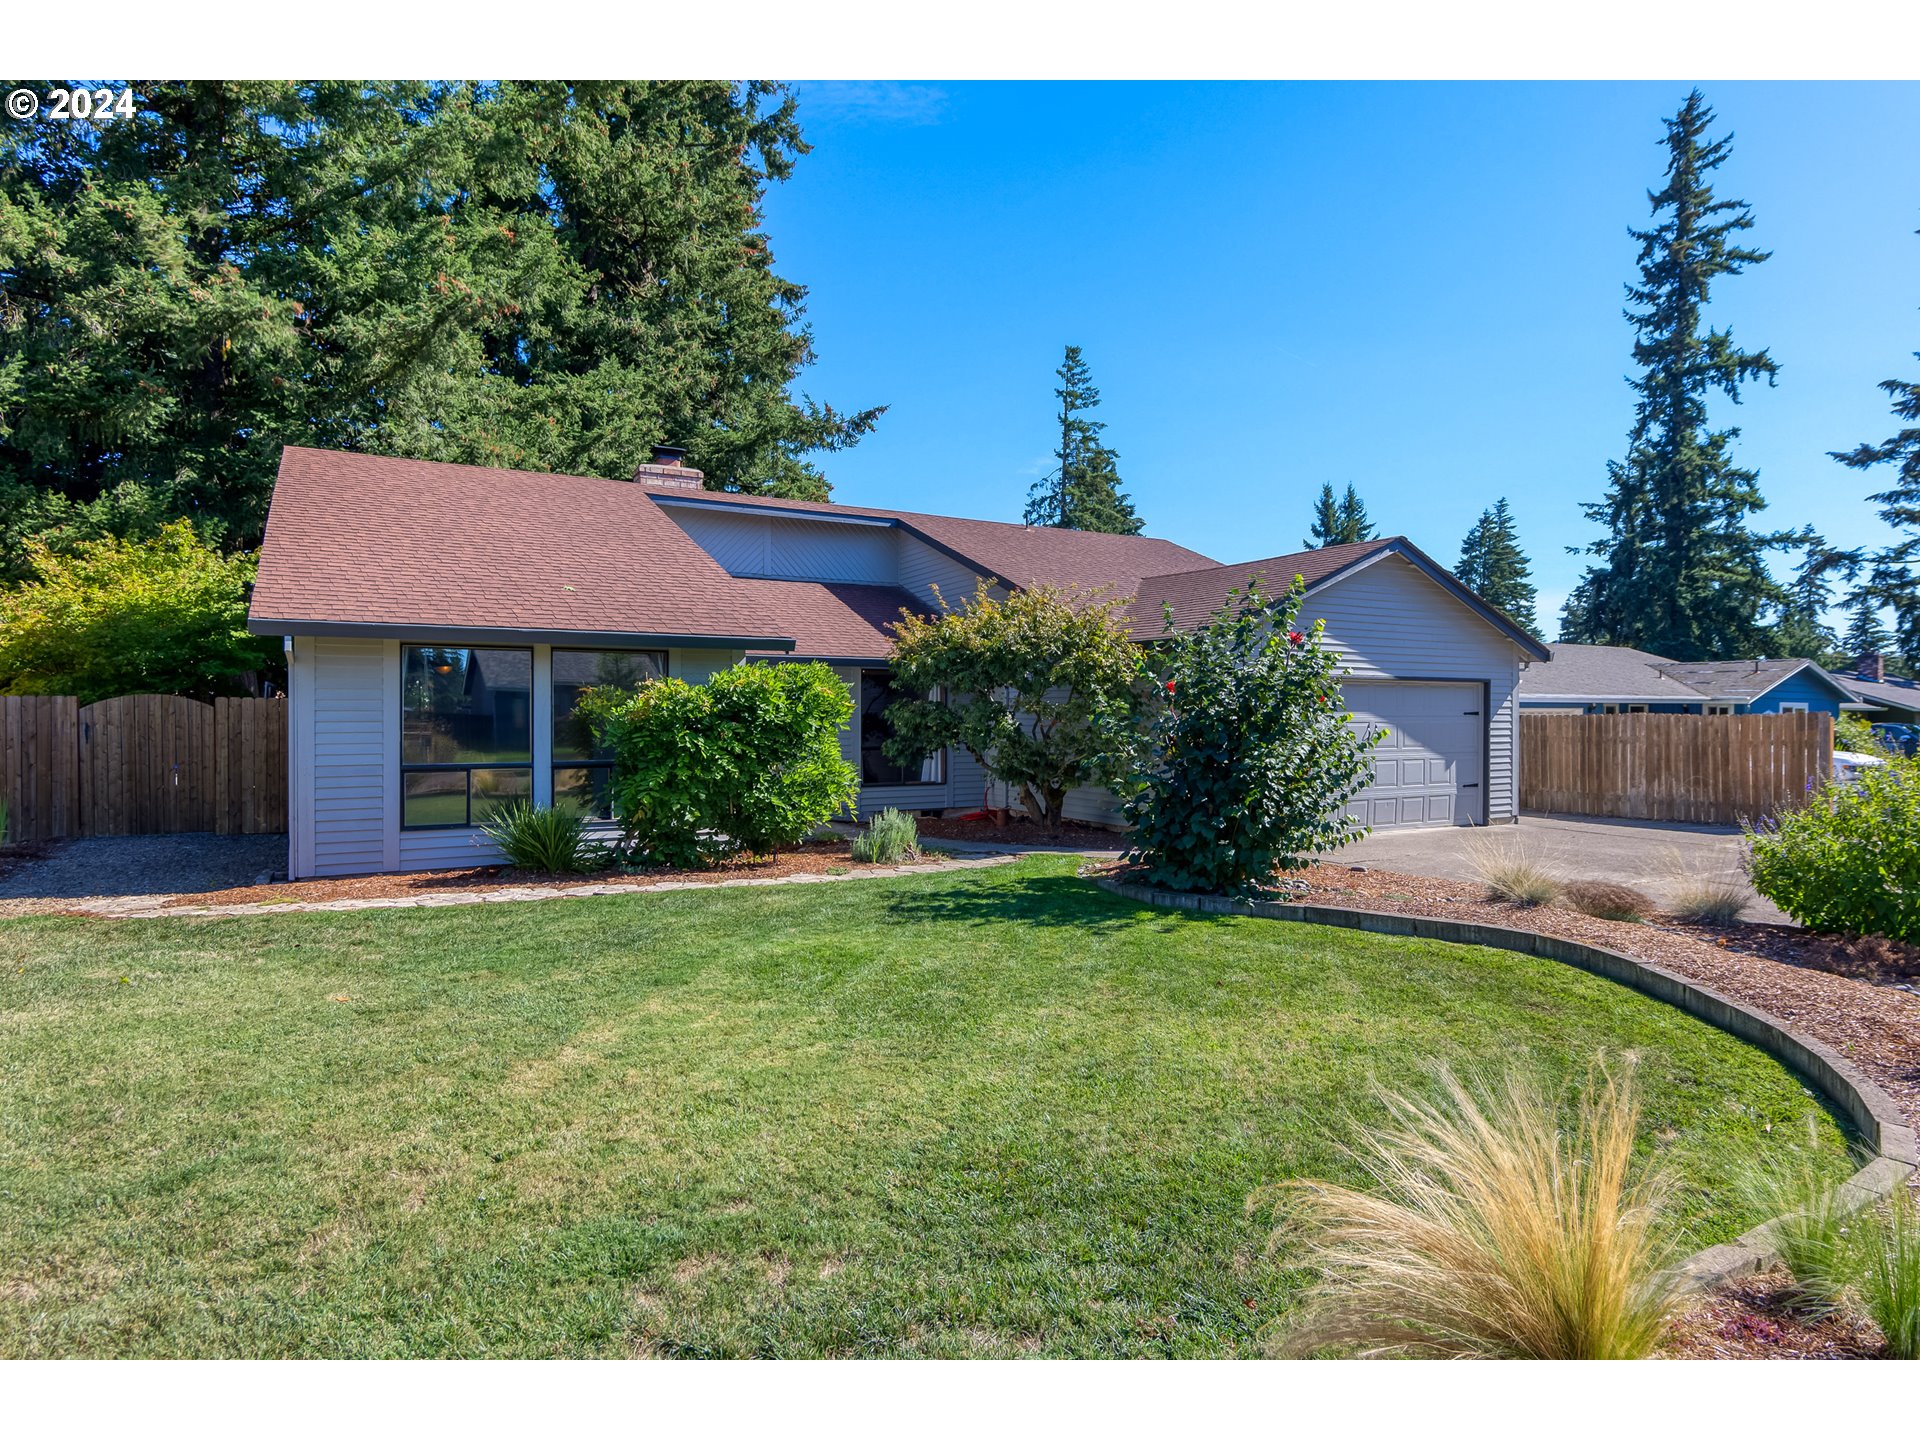
[[[1699,90],[1667,121],[1667,184],[1649,192],[1653,225],[1640,242],[1640,280],[1626,286],[1634,326],[1634,426],[1611,463],[1607,495],[1588,518],[1607,536],[1567,601],[1567,639],[1634,645],[1676,660],[1757,653],[1766,611],[1784,593],[1766,570],[1774,536],[1747,518],[1764,507],[1759,476],[1734,463],[1736,428],[1707,424],[1707,397],[1740,403],[1749,380],[1772,384],[1764,349],[1740,349],[1730,330],[1705,326],[1711,288],[1766,252],[1740,244],[1753,227],[1741,200],[1720,200],[1711,175],[1730,136],[1707,140],[1715,115]]]

